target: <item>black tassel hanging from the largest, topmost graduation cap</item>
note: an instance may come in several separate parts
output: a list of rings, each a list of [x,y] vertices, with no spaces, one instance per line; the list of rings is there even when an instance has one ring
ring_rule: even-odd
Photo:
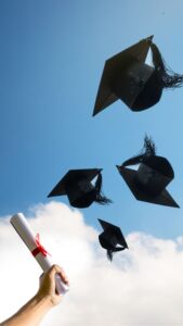
[[[151,45],[153,64],[159,76],[162,88],[178,88],[183,85],[183,75],[174,73],[169,68],[155,43]]]

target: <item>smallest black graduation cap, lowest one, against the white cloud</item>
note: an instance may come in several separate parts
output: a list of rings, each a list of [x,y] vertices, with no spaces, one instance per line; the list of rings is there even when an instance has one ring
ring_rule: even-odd
[[[99,236],[99,241],[101,246],[107,250],[107,258],[112,261],[113,253],[125,250],[128,248],[128,244],[118,226],[100,218],[97,220],[104,229],[104,231]]]

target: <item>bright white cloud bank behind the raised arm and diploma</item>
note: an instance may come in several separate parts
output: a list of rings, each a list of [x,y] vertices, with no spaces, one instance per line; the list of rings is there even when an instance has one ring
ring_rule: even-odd
[[[157,239],[132,233],[130,250],[113,263],[97,233],[77,210],[39,204],[30,224],[64,266],[70,291],[44,318],[43,326],[182,326],[183,237]],[[35,294],[41,271],[9,223],[0,220],[0,319]]]

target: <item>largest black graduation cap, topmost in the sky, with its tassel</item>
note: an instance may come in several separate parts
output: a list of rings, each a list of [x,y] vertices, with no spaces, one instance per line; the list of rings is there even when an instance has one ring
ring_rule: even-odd
[[[145,63],[148,50],[153,65]],[[153,36],[142,39],[105,62],[93,115],[120,99],[132,111],[155,105],[165,88],[183,84],[183,75],[169,70]]]

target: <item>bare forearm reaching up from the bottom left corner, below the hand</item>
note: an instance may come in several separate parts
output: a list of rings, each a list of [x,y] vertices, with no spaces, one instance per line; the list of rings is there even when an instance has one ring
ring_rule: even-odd
[[[52,308],[49,297],[36,294],[15,315],[0,324],[1,326],[38,326]]]

